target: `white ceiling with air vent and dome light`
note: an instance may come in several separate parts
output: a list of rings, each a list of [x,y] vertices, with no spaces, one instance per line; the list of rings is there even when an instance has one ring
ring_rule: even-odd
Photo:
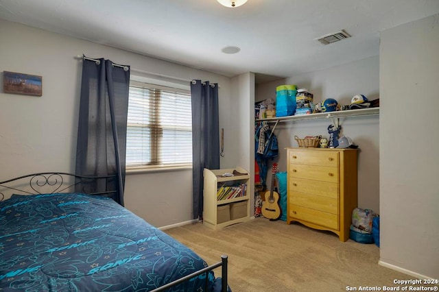
[[[238,8],[216,0],[0,0],[0,19],[229,77],[289,77],[377,56],[379,32],[438,13],[439,0],[248,0]],[[314,40],[340,29],[352,38]],[[226,46],[241,51],[222,53]]]

